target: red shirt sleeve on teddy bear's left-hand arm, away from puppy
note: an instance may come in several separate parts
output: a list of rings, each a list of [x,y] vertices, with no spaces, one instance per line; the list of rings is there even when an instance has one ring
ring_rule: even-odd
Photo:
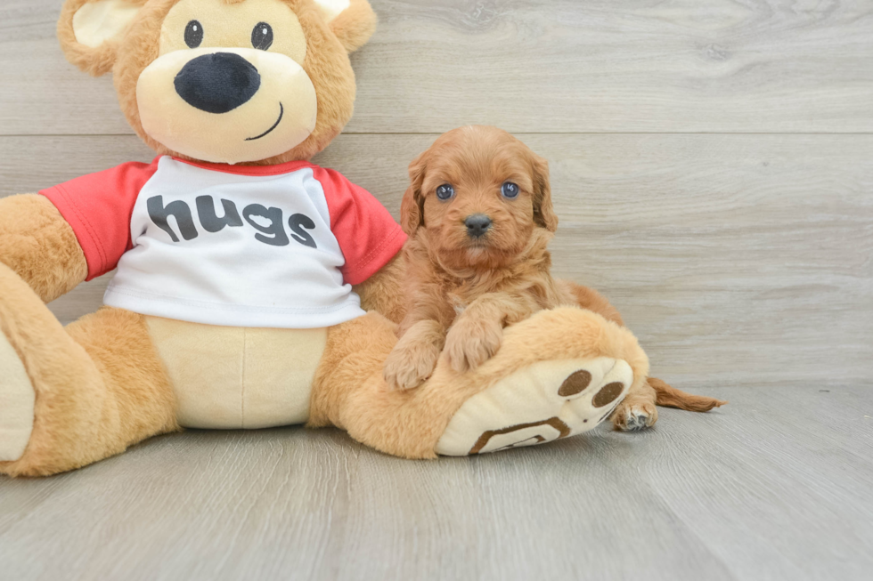
[[[52,201],[69,222],[88,262],[88,280],[114,269],[130,240],[130,215],[145,182],[158,170],[129,163],[90,173],[39,193]]]

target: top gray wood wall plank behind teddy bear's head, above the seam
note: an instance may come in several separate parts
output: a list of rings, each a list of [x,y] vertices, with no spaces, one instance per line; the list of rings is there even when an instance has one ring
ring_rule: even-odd
[[[372,4],[348,133],[873,131],[870,0]],[[131,133],[63,60],[60,5],[0,5],[0,134]]]

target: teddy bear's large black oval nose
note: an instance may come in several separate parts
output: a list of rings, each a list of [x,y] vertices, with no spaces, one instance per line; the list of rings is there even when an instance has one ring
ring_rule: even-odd
[[[261,76],[249,61],[233,52],[213,52],[188,61],[175,76],[175,92],[185,102],[209,113],[227,113],[257,93]]]

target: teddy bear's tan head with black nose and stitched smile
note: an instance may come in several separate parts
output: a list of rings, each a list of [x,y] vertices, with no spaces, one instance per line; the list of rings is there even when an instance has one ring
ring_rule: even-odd
[[[113,73],[136,133],[160,154],[277,164],[324,149],[352,116],[348,53],[366,0],[66,0],[70,62]]]

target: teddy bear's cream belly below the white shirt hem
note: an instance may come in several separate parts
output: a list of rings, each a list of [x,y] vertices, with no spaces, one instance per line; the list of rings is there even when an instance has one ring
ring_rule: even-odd
[[[187,428],[304,424],[327,329],[216,327],[148,318]]]

